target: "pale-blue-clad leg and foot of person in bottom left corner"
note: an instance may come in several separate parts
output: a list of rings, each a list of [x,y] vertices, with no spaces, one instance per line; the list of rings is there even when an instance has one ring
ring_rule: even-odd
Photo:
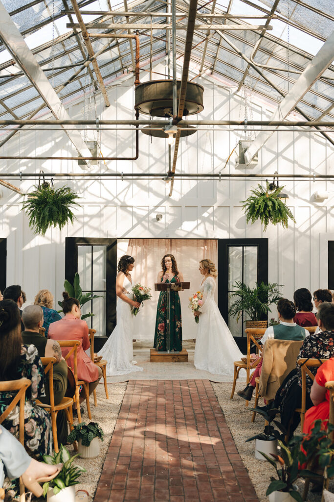
[[[22,482],[37,497],[43,495],[43,488],[39,483],[54,479],[63,464],[49,465],[31,458],[25,447],[7,429],[0,425],[0,460],[10,479],[22,476]],[[4,472],[0,469],[0,487],[3,486]],[[1,497],[0,497],[1,498]]]

